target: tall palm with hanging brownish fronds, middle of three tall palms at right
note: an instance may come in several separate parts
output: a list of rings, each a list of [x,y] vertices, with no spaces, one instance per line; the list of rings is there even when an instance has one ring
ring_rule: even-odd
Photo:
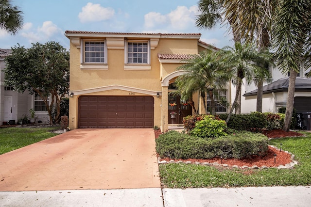
[[[246,43],[256,42],[259,50],[268,50],[277,3],[277,0],[225,0],[224,4],[228,5],[225,16],[240,31]],[[269,74],[259,71],[255,81],[258,88],[256,111],[259,112],[262,111],[262,88],[266,78]]]

